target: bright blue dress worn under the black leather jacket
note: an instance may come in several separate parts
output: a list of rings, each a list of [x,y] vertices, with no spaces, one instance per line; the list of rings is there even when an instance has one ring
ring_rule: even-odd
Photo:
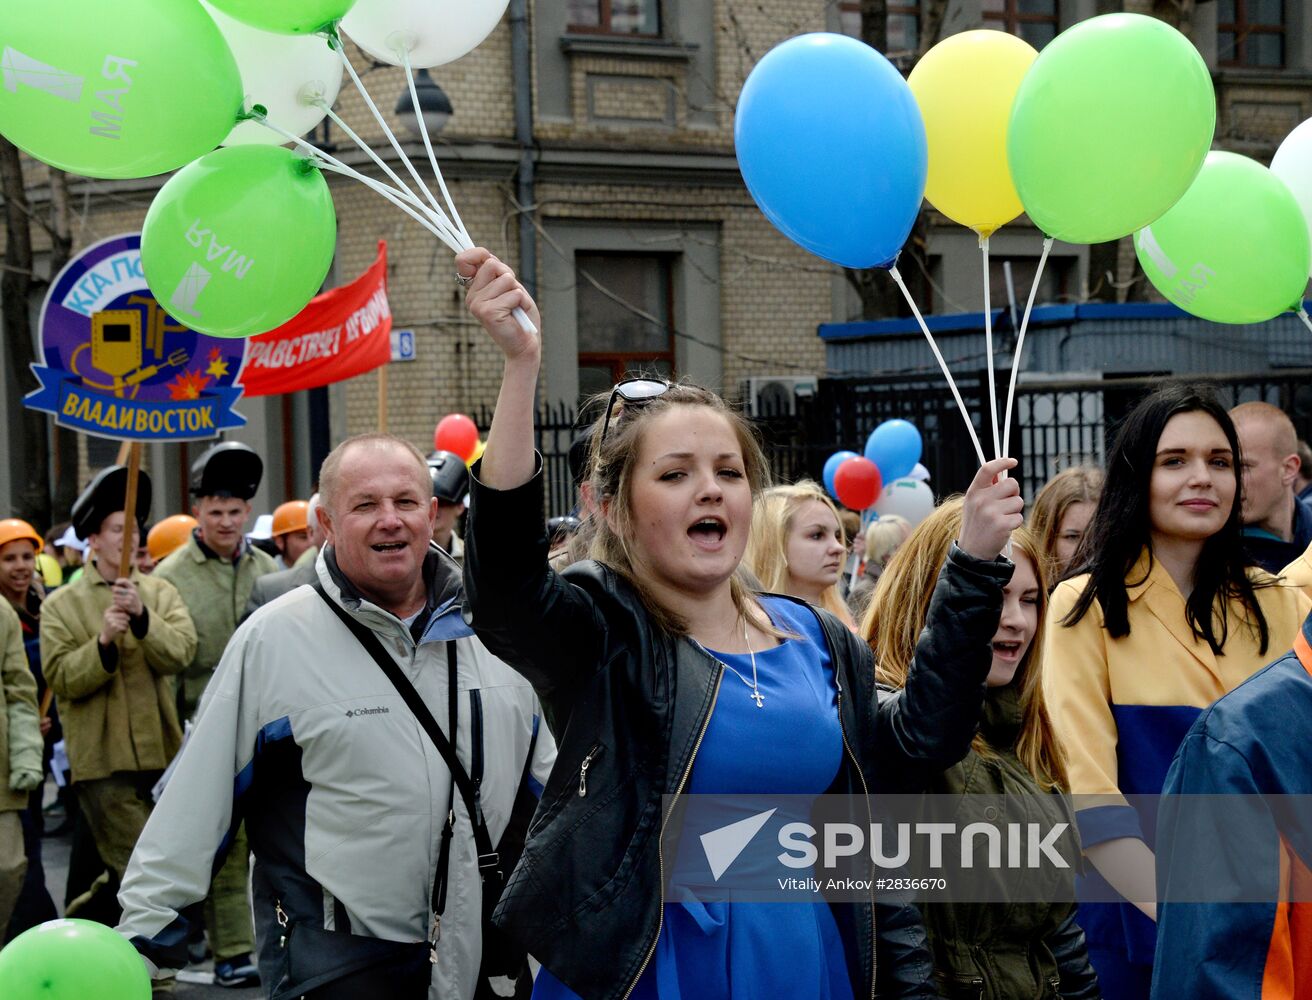
[[[750,656],[711,652],[743,678],[724,671],[689,777],[693,795],[819,795],[842,765],[837,689],[820,622],[790,601],[768,597],[761,604],[778,627],[799,638],[756,654],[762,707],[747,682]],[[771,831],[782,816],[775,819]],[[708,879],[697,837],[684,837],[670,892],[682,898],[666,898],[656,951],[634,1000],[851,1000],[842,941],[827,903],[701,902],[707,894],[694,898],[689,890],[710,887]],[[577,1000],[577,993],[543,967],[533,997]]]

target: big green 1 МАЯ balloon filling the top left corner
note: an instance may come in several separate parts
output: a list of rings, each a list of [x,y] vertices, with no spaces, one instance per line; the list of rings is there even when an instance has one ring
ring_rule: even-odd
[[[241,75],[198,0],[0,4],[0,133],[87,177],[150,177],[209,152]]]

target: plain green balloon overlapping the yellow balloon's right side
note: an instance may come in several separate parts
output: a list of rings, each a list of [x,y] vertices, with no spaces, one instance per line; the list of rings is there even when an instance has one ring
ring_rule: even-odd
[[[1153,17],[1103,14],[1039,52],[1012,105],[1006,159],[1044,234],[1105,243],[1189,190],[1215,129],[1212,79],[1193,43]]]

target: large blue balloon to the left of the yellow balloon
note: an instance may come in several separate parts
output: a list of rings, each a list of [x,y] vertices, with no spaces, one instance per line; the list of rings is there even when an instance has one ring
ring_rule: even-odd
[[[841,34],[775,46],[733,117],[743,180],[765,217],[845,268],[887,268],[925,194],[925,122],[884,56]]]

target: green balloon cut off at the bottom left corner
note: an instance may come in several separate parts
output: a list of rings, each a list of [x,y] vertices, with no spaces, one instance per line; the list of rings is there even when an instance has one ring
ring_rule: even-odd
[[[50,920],[0,951],[5,1000],[150,1000],[151,978],[127,938],[91,920]]]

